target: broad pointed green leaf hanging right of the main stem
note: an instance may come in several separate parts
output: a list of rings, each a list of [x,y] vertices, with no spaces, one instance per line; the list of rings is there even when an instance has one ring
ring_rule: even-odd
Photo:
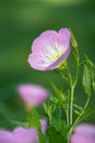
[[[92,94],[92,75],[91,75],[91,69],[87,65],[84,65],[83,69],[83,87],[85,94],[91,97]]]

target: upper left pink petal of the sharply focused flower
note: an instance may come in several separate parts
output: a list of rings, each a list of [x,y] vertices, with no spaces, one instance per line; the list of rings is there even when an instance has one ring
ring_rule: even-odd
[[[32,45],[33,52],[48,53],[50,48],[55,48],[55,43],[57,42],[58,33],[56,31],[43,32]]]

